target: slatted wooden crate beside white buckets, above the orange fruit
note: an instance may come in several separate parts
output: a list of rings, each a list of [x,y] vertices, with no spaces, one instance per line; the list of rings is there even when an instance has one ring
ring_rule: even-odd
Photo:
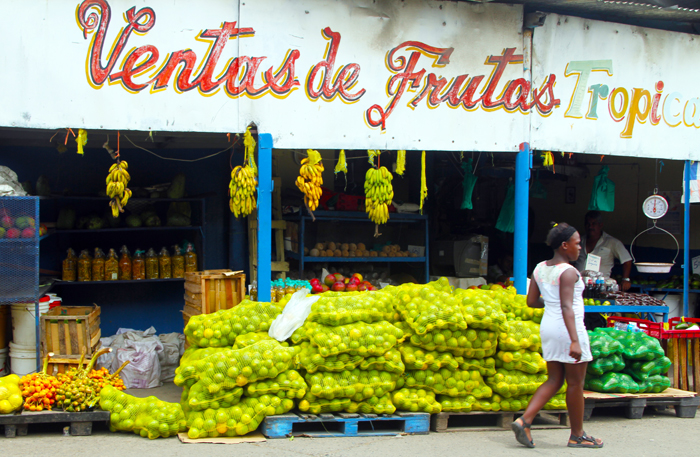
[[[57,306],[41,316],[42,354],[57,359],[89,358],[100,346],[100,307]]]

